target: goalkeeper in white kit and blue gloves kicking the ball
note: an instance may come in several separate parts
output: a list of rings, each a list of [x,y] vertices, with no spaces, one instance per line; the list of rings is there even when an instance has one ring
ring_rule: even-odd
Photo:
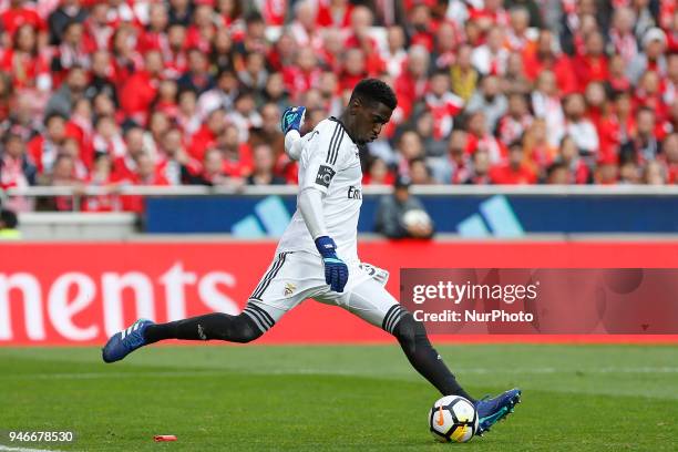
[[[340,117],[321,121],[300,136],[305,109],[282,115],[285,148],[299,161],[297,212],[275,258],[238,316],[208,314],[168,323],[140,319],[115,333],[103,349],[105,362],[163,339],[250,342],[307,298],[339,306],[393,335],[408,360],[444,396],[475,403],[479,433],[513,411],[521,391],[475,400],[458,383],[415,321],[383,287],[388,274],[358,259],[357,229],[362,204],[358,145],[376,140],[397,105],[393,91],[376,79],[356,85]]]

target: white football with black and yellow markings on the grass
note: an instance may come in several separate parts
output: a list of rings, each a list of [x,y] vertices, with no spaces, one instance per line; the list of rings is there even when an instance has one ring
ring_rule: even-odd
[[[477,431],[477,413],[469,400],[445,396],[429,411],[431,434],[441,442],[466,442]]]

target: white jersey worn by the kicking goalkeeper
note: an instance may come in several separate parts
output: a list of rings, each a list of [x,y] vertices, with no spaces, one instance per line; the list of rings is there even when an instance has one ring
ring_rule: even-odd
[[[337,244],[337,256],[347,264],[358,263],[358,217],[362,205],[358,146],[335,117],[321,121],[301,140],[299,193],[312,187],[325,194],[322,217],[328,235]],[[284,251],[320,256],[299,208],[285,229],[276,254]]]

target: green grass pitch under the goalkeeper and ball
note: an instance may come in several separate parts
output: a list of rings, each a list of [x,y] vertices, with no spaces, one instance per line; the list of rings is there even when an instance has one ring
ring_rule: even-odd
[[[439,444],[439,394],[392,346],[0,348],[0,429],[72,430],[62,451],[676,451],[678,347],[439,346],[483,396],[515,386],[515,413]],[[154,434],[177,442],[155,443]]]

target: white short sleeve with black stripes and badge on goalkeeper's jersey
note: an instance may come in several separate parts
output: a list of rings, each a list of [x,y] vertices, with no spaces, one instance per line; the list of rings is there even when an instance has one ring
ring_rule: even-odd
[[[339,123],[323,124],[317,127],[301,152],[301,186],[299,191],[316,188],[327,193],[337,174],[341,156],[341,143],[345,133]]]

